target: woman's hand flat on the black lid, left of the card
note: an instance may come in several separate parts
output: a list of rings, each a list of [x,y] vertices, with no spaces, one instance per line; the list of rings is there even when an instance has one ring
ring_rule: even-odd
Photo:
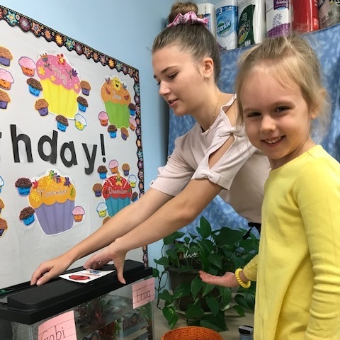
[[[58,256],[55,259],[42,262],[33,273],[32,278],[30,279],[30,284],[43,285],[51,278],[55,278],[55,276],[66,271],[71,264],[72,260],[70,260],[69,256],[66,254]]]

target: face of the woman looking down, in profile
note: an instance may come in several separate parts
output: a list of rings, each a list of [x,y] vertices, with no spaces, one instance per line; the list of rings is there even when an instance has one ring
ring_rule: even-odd
[[[169,45],[154,52],[152,67],[159,94],[175,115],[194,115],[204,99],[203,63],[198,64],[190,53],[178,46]]]

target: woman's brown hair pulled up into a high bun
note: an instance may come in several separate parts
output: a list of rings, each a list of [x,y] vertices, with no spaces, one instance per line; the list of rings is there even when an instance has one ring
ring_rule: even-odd
[[[171,23],[177,14],[186,14],[191,11],[198,14],[198,7],[195,3],[176,2],[171,6],[168,21]],[[182,51],[191,53],[194,60],[198,62],[205,57],[210,57],[214,62],[214,79],[217,84],[221,70],[220,53],[214,36],[203,23],[181,23],[165,28],[154,39],[152,53],[168,45],[179,46]]]

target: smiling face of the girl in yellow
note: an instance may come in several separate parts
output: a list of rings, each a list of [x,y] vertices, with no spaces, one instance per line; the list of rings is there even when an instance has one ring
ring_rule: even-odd
[[[241,89],[246,134],[267,155],[273,169],[290,162],[314,145],[310,113],[297,84],[286,85],[263,69],[254,69]]]

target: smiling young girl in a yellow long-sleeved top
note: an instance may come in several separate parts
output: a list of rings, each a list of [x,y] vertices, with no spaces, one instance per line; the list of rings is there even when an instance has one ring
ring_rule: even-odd
[[[329,114],[319,62],[295,35],[241,58],[239,118],[272,168],[259,256],[236,274],[200,277],[229,287],[257,281],[256,340],[340,339],[340,165],[311,137],[313,121],[325,127]]]

